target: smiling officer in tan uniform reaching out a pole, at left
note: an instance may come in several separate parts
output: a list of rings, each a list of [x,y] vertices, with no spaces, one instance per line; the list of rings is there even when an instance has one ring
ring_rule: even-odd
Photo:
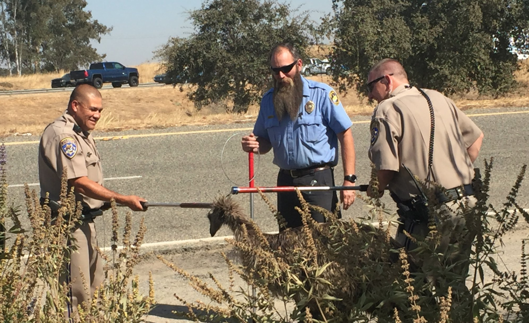
[[[94,217],[101,215],[103,201],[115,199],[134,211],[141,211],[139,196],[121,195],[105,189],[101,157],[90,131],[101,117],[102,97],[91,85],[77,86],[71,93],[68,110],[46,127],[39,147],[39,180],[41,201],[49,192],[50,200],[59,201],[61,176],[66,167],[68,190],[74,187],[76,200],[83,205],[85,218],[74,228],[77,251],[71,255],[67,277],[60,282],[70,283],[67,315],[77,315],[77,305],[89,301],[103,282],[103,266],[94,246],[97,246]],[[51,204],[51,203],[50,203]],[[84,273],[88,292],[80,273]],[[89,302],[85,305],[89,305]]]

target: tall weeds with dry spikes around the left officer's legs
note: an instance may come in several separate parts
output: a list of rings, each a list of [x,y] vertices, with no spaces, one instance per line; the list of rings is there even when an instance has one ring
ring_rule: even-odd
[[[81,215],[81,205],[76,204],[73,190],[67,191],[66,171],[63,172],[61,205],[57,218],[52,218],[47,205],[41,206],[40,196],[25,186],[25,208],[30,228],[22,229],[22,210],[7,199],[7,156],[5,146],[0,146],[0,223],[13,225],[0,232],[5,241],[0,254],[0,321],[1,322],[68,322],[66,309],[68,285],[59,284],[69,255],[76,252],[75,245],[67,243],[72,229]],[[81,304],[81,322],[142,322],[154,305],[152,276],[149,295],[139,291],[139,278],[133,267],[140,261],[139,249],[145,234],[143,218],[132,240],[132,214],[125,217],[122,244],[118,251],[118,213],[112,202],[113,230],[110,257],[98,250],[106,260],[105,282],[96,290],[90,304]],[[87,287],[87,290],[89,288]]]

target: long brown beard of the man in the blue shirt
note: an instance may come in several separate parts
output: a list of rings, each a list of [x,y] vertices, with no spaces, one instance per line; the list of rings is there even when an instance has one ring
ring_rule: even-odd
[[[277,118],[283,119],[288,113],[290,120],[296,120],[299,106],[303,100],[303,81],[299,70],[294,78],[285,77],[282,80],[273,79],[273,107]]]

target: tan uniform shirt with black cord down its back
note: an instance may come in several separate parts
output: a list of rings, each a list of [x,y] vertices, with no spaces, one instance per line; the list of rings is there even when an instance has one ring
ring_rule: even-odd
[[[448,97],[431,89],[423,91],[430,97],[435,115],[431,179],[445,189],[470,184],[474,170],[467,148],[479,138],[481,130]],[[426,99],[408,85],[397,87],[373,112],[369,159],[377,169],[398,172],[389,190],[400,200],[418,194],[403,164],[423,181],[428,174],[430,123]]]

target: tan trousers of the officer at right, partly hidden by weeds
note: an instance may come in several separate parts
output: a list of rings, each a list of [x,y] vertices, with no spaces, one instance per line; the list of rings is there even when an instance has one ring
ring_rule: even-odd
[[[461,210],[458,210],[461,203],[466,203],[469,208],[476,207],[476,198],[474,196],[464,196],[461,200],[455,200],[448,203],[445,203],[441,206],[441,211],[443,214],[449,214],[451,218],[441,223],[441,226],[437,230],[441,234],[441,241],[437,249],[437,253],[447,255],[443,258],[447,264],[454,264],[450,272],[466,277],[469,270],[469,262],[471,250],[472,250],[472,241],[475,238],[475,234],[469,232],[466,228],[466,221],[461,215]],[[397,231],[396,240],[400,245],[406,247],[406,250],[411,251],[417,247],[411,240],[409,240],[406,235],[402,232],[402,229],[409,232],[413,237],[426,237],[428,234],[428,223],[419,222],[416,223],[411,219],[405,219],[404,225],[399,227]],[[413,255],[413,252],[412,252]],[[421,267],[435,268],[441,264],[436,264],[435,259],[425,259],[421,261],[420,255],[413,255],[416,257],[416,265]],[[444,265],[446,266],[446,265]],[[435,281],[441,277],[435,277],[432,275],[428,278],[430,282],[435,285]]]

